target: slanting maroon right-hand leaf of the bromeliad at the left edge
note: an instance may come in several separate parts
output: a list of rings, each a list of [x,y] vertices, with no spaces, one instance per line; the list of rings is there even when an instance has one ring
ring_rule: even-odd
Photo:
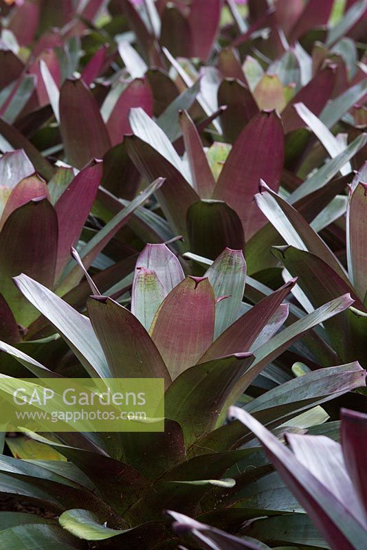
[[[74,246],[96,198],[102,178],[102,162],[93,161],[81,170],[55,204],[58,219],[56,278],[70,259]]]

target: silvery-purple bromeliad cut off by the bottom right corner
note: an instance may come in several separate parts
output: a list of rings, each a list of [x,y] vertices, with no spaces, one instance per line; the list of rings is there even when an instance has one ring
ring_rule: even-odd
[[[342,410],[341,444],[320,435],[289,433],[290,449],[247,412],[232,407],[229,415],[254,432],[331,549],[362,550],[367,531],[367,415]],[[258,527],[255,523],[249,533]]]

